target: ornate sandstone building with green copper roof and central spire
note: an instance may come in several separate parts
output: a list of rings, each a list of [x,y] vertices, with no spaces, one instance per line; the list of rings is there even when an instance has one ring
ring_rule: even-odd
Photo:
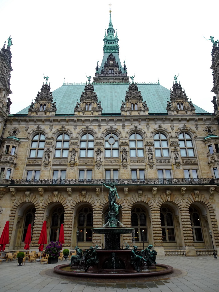
[[[0,51],[0,232],[10,223],[8,249],[22,249],[28,224],[38,248],[43,221],[48,242],[64,223],[67,248],[105,246],[93,227],[107,222],[114,182],[119,221],[135,228],[120,247],[153,244],[160,255],[212,253],[219,247],[219,48],[212,50],[214,113],[188,101],[180,83],[137,84],[119,60],[112,25],[95,77],[51,92],[48,79],[31,105],[9,114],[10,43]],[[129,82],[131,81],[131,82]],[[168,102],[166,100],[168,99]],[[56,100],[56,102],[54,101]],[[141,231],[144,230],[144,237]]]

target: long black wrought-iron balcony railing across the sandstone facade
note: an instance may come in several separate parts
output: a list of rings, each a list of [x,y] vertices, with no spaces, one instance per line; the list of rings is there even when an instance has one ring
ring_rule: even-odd
[[[213,178],[13,179],[11,185],[214,185]]]

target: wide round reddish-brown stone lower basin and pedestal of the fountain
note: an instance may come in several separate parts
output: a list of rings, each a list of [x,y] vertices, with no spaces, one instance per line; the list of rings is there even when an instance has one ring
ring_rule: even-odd
[[[54,271],[72,277],[94,278],[150,277],[168,274],[173,271],[173,267],[169,265],[157,264],[149,267],[149,270],[144,268],[141,272],[137,272],[129,262],[131,260],[131,250],[97,250],[97,257],[99,263],[91,266],[86,273],[76,266],[73,269],[70,268],[69,264],[57,265],[54,267]]]

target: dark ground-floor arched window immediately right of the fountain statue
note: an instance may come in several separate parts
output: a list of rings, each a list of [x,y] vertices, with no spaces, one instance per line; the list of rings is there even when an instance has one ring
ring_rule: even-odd
[[[131,224],[132,228],[135,228],[135,236],[133,240],[147,242],[147,215],[142,207],[135,207],[131,211]],[[144,230],[144,238],[142,238],[141,232]]]

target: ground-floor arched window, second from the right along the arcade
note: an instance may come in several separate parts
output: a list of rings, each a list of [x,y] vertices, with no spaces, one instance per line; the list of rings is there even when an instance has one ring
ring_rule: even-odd
[[[175,241],[173,213],[169,208],[161,207],[160,220],[163,241]]]

